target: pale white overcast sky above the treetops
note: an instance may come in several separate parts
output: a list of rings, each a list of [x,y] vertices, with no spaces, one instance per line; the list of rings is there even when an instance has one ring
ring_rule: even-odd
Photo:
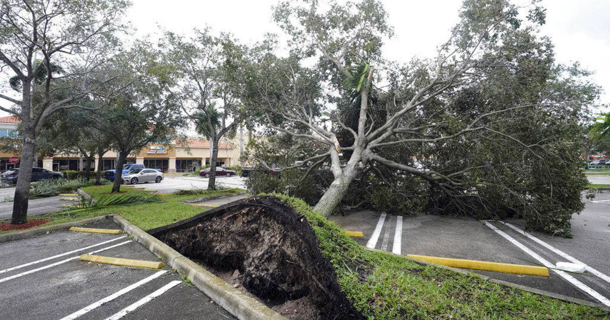
[[[265,32],[281,33],[271,21],[271,6],[277,0],[132,1],[126,18],[137,28],[137,36],[158,34],[159,27],[188,34],[195,27],[210,26],[215,32],[231,32],[243,43],[251,43],[261,40]],[[382,2],[395,28],[395,37],[387,41],[384,54],[403,62],[414,55],[433,56],[458,21],[461,6],[459,0]],[[547,8],[542,32],[553,39],[557,60],[578,61],[595,71],[594,82],[606,90],[600,102],[610,104],[610,0],[543,0],[542,5]]]

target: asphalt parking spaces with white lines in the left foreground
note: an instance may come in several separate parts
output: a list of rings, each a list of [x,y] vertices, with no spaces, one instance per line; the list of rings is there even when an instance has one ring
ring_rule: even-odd
[[[119,229],[112,221],[85,227]],[[62,231],[0,243],[0,319],[234,319],[167,266],[79,261],[85,253],[159,261],[126,233]]]

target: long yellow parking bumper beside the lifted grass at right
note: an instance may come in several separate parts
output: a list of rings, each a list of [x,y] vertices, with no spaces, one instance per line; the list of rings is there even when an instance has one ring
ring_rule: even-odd
[[[532,276],[548,277],[548,269],[543,266],[513,265],[511,263],[428,257],[426,255],[407,254],[407,257],[438,263],[443,266],[455,268],[477,269],[504,273],[529,274]]]

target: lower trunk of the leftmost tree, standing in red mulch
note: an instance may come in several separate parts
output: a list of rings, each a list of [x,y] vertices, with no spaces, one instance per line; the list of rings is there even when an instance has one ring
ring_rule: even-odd
[[[23,131],[23,145],[21,146],[21,165],[13,199],[12,224],[27,222],[27,201],[30,196],[30,181],[32,180],[32,167],[34,165],[34,133]]]

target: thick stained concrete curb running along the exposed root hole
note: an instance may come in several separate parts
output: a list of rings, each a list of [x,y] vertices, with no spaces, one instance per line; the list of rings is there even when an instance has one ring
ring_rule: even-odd
[[[153,254],[161,257],[168,266],[176,269],[179,274],[190,280],[199,290],[207,294],[210,299],[223,307],[224,310],[229,311],[229,313],[234,315],[237,319],[286,319],[253,297],[233,288],[229,283],[224,282],[224,280],[213,275],[202,266],[199,266],[197,263],[184,257],[184,255],[175,251],[159,239],[134,226],[134,224],[131,224],[131,222],[127,221],[127,219],[122,216],[112,215],[112,217],[113,220],[121,226],[125,232],[132,235],[138,243],[145,246]]]

